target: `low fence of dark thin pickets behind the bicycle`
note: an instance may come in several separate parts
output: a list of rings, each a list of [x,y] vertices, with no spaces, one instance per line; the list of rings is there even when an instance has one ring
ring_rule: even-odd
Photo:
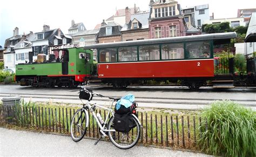
[[[49,132],[70,134],[70,124],[76,108],[14,106],[0,109],[1,124],[12,124]],[[96,111],[106,118],[105,111]],[[13,114],[12,114],[13,113]],[[99,138],[98,126],[89,112],[86,137]],[[140,112],[142,123],[139,143],[165,147],[196,148],[201,136],[201,118],[196,115],[149,114]]]

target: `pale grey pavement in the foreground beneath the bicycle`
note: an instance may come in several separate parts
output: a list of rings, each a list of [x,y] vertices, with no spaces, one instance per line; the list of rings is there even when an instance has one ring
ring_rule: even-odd
[[[94,143],[90,139],[73,142],[69,136],[0,128],[0,156],[206,156],[143,146],[122,150],[111,142]]]

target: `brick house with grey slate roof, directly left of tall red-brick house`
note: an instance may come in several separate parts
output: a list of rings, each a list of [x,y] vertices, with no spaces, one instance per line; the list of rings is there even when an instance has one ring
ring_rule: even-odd
[[[149,38],[149,12],[144,11],[131,15],[130,9],[125,9],[125,24],[121,30],[122,41],[141,40]]]

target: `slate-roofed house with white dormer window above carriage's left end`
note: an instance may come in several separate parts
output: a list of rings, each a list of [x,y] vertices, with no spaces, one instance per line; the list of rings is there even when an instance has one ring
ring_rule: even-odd
[[[100,27],[98,33],[99,43],[113,43],[121,41],[122,26],[115,22]]]

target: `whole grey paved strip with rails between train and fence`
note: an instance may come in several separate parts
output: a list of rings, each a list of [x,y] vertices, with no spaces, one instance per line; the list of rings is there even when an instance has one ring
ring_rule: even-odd
[[[185,87],[171,86],[129,86],[126,89],[90,86],[93,91],[105,96],[122,97],[132,93],[140,107],[200,109],[214,100],[230,99],[256,110],[256,88],[213,89],[202,87],[191,91]],[[25,100],[50,101],[80,104],[78,88],[33,88],[19,85],[0,85],[0,99],[10,95],[21,95]],[[100,105],[107,105],[107,98],[93,99]]]

